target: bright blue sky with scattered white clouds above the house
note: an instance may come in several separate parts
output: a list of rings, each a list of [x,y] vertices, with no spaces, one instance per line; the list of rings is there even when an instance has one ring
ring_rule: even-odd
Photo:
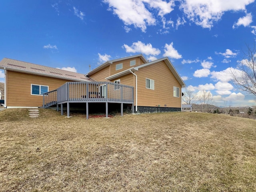
[[[256,105],[229,77],[255,42],[255,0],[11,0],[0,7],[0,59],[86,74],[89,65],[135,54],[168,57],[186,86],[210,91],[214,104]]]

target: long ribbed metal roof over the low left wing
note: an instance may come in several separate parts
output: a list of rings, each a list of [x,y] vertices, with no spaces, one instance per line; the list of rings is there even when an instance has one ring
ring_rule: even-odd
[[[52,67],[37,65],[33,63],[3,58],[0,62],[0,69],[6,69],[40,76],[48,76],[65,80],[92,81],[84,74],[56,69]]]

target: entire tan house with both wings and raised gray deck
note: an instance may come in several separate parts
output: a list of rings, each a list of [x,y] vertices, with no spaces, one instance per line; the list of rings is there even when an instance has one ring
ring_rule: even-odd
[[[67,107],[90,103],[121,104],[121,113],[181,110],[183,80],[170,60],[148,62],[142,54],[110,60],[79,74],[4,58],[5,107]]]

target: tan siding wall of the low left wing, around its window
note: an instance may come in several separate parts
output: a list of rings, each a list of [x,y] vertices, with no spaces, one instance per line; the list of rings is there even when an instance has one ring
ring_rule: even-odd
[[[67,80],[7,71],[8,106],[42,106],[43,96],[31,95],[31,84],[49,86],[49,91],[60,87]]]

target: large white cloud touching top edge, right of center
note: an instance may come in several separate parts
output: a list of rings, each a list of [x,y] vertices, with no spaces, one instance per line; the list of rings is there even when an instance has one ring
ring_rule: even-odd
[[[188,19],[203,28],[211,28],[226,11],[246,10],[254,0],[181,0],[180,8]]]

